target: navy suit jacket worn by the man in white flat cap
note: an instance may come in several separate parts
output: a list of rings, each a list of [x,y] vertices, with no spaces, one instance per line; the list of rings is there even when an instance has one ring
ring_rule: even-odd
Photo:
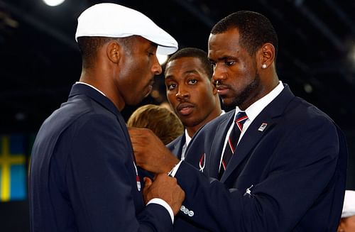
[[[40,127],[31,156],[31,231],[173,231],[143,203],[124,118],[104,95],[74,84]]]

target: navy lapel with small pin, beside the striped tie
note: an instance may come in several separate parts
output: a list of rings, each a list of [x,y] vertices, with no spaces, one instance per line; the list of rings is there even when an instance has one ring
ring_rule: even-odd
[[[236,147],[236,152],[232,156],[228,166],[226,167],[226,171],[222,175],[221,182],[226,182],[228,177],[232,172],[234,172],[234,170],[236,170],[238,165],[248,157],[258,141],[261,140],[261,138],[266,135],[268,131],[273,129],[278,122],[279,116],[283,114],[285,107],[293,99],[293,97],[295,96],[290,91],[290,88],[288,85],[285,85],[283,91],[275,99],[273,99],[273,101],[271,101],[271,103],[268,104],[268,106],[266,106],[260,114],[258,114],[239,141],[239,144]],[[266,127],[259,130],[259,128],[265,126],[264,123],[266,123]]]

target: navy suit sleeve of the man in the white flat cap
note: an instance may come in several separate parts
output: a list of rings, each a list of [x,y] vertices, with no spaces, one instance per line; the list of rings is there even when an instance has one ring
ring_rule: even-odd
[[[114,119],[91,116],[72,128],[65,173],[78,231],[172,231],[168,211],[143,207],[141,192],[133,189],[131,145]]]

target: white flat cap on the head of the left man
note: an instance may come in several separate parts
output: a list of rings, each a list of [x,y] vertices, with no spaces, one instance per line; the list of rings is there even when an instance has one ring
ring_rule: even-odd
[[[178,42],[143,13],[119,4],[96,4],[77,18],[75,40],[81,36],[124,38],[140,35],[158,45],[157,53],[169,55]]]

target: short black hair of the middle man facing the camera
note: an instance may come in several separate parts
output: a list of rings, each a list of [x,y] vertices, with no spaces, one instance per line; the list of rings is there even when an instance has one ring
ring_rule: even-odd
[[[177,60],[182,57],[196,57],[200,59],[204,72],[206,72],[207,77],[209,78],[209,80],[211,80],[213,74],[213,67],[211,65],[211,62],[209,62],[208,60],[207,53],[204,50],[200,48],[182,48],[173,55],[171,55],[171,57],[169,57],[168,59],[168,62]]]

